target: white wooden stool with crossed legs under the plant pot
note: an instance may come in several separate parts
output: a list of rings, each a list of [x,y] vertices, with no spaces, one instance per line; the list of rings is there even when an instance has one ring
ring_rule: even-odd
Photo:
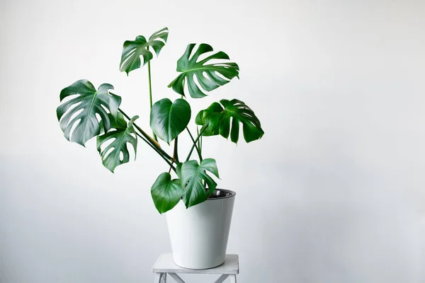
[[[222,283],[227,277],[230,277],[230,282],[236,283],[236,275],[239,274],[239,256],[226,255],[225,263],[208,270],[190,270],[176,265],[172,253],[162,253],[152,267],[152,272],[155,272],[154,283],[166,283],[167,273],[177,283],[185,283],[177,273],[218,274],[221,276],[214,283]]]

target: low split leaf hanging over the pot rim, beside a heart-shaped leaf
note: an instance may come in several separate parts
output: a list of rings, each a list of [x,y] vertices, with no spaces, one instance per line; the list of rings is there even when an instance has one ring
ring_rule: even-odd
[[[208,199],[208,195],[212,195],[217,183],[207,174],[210,171],[217,178],[218,175],[217,164],[212,158],[205,158],[198,164],[198,161],[191,160],[186,161],[181,166],[181,183],[183,185],[183,202],[186,208],[192,207],[193,205],[205,202]],[[208,185],[208,192],[205,190],[203,180]]]

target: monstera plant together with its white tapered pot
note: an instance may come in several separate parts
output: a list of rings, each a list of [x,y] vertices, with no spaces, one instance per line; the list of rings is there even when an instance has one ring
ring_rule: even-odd
[[[57,119],[69,141],[84,146],[96,137],[103,166],[111,172],[128,163],[129,148],[136,154],[140,139],[156,151],[166,166],[153,182],[152,200],[159,213],[167,212],[174,261],[182,267],[210,268],[225,260],[235,193],[217,189],[212,178],[219,178],[217,164],[215,159],[203,156],[203,137],[220,134],[237,143],[242,126],[244,140],[251,142],[260,139],[264,132],[254,111],[237,99],[212,103],[196,115],[196,134],[188,128],[191,98],[203,98],[234,77],[239,79],[238,65],[229,62],[225,52],[214,53],[204,43],[189,44],[177,61],[179,75],[168,87],[181,97],[174,101],[163,98],[152,104],[152,51],[158,56],[168,35],[168,28],[163,28],[149,40],[139,35],[135,40],[125,41],[120,61],[120,71],[127,75],[147,64],[152,136],[137,126],[138,116],[130,117],[120,109],[121,98],[108,83],[96,89],[90,81],[82,79],[62,89]],[[199,59],[205,54],[208,57]],[[191,149],[181,158],[179,135],[183,132],[191,138]],[[167,153],[158,138],[168,145],[172,142],[172,153]],[[192,158],[193,151],[197,158]]]

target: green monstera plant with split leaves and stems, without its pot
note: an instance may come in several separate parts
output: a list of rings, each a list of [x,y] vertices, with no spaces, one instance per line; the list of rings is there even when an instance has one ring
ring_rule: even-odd
[[[121,97],[115,94],[109,83],[103,83],[97,89],[86,79],[72,83],[62,89],[62,104],[56,110],[60,128],[69,141],[85,146],[86,141],[96,137],[103,166],[111,172],[129,162],[129,149],[137,153],[139,139],[157,151],[168,169],[158,176],[151,189],[160,213],[169,211],[182,199],[186,207],[200,204],[217,187],[212,178],[212,175],[219,178],[217,164],[213,158],[203,157],[203,137],[220,134],[226,139],[230,136],[230,140],[237,143],[240,127],[246,142],[261,139],[264,133],[254,111],[237,99],[222,99],[220,103],[212,103],[201,110],[195,118],[196,137],[189,130],[192,113],[187,94],[191,98],[203,98],[235,77],[239,79],[238,65],[229,62],[225,52],[214,53],[208,44],[189,44],[177,61],[179,76],[168,87],[180,96],[174,101],[163,98],[152,104],[152,51],[158,56],[168,35],[168,28],[157,31],[149,40],[139,35],[135,40],[124,42],[121,54],[120,71],[127,75],[147,64],[152,136],[137,126],[139,116],[130,117],[120,109]],[[201,55],[206,56],[205,59],[199,59]],[[179,135],[185,131],[192,144],[187,157],[180,159]],[[173,142],[172,154],[166,152],[158,139],[168,145]],[[198,160],[191,159],[194,150]]]

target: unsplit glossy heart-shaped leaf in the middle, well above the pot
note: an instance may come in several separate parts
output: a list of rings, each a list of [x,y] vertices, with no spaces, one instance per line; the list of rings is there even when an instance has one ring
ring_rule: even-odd
[[[157,101],[152,106],[150,126],[163,141],[169,143],[175,139],[191,120],[191,106],[183,98],[174,103],[168,98]]]

